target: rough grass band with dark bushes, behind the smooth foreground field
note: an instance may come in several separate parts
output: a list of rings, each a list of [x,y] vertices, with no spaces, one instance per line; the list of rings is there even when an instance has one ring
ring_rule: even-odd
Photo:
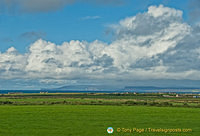
[[[200,98],[183,95],[180,98],[163,97],[163,94],[4,94],[0,95],[0,105],[149,105],[159,107],[200,107]],[[170,94],[171,95],[171,94]],[[173,96],[172,94],[171,96]]]

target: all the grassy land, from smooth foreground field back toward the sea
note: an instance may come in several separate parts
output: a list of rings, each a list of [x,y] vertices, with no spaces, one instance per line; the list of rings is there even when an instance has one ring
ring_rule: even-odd
[[[199,99],[191,97],[21,94],[2,95],[0,103],[0,136],[200,135]],[[139,133],[133,128],[187,132]]]

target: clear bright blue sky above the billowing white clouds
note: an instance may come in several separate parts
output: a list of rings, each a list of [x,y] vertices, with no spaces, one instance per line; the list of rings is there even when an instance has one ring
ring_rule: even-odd
[[[107,25],[144,12],[149,5],[160,4],[183,10],[184,19],[188,20],[187,0],[127,0],[122,5],[115,2],[109,5],[76,2],[55,11],[31,13],[12,9],[1,10],[0,51],[4,52],[14,46],[19,52],[24,53],[26,47],[40,37],[57,44],[70,40],[96,39],[110,42],[112,36],[106,33]],[[99,18],[84,19],[88,16]],[[31,32],[35,32],[35,35],[22,36]]]

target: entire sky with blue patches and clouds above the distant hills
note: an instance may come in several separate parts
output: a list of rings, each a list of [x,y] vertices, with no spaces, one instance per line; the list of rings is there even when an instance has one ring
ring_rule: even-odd
[[[200,0],[1,0],[0,89],[200,87]]]

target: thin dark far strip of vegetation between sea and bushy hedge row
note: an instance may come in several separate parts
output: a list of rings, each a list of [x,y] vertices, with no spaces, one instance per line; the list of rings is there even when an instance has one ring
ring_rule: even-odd
[[[164,97],[165,95],[169,97]],[[160,93],[77,93],[77,94],[1,94],[0,98],[20,99],[20,98],[103,98],[103,99],[185,99],[192,98],[191,95],[182,95],[179,98],[175,94]]]

